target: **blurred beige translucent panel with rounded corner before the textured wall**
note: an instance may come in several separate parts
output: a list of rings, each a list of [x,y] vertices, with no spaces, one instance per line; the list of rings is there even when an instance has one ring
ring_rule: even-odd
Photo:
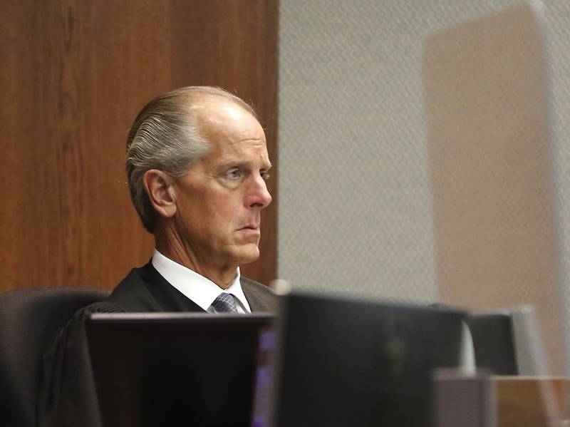
[[[534,304],[551,373],[564,374],[542,45],[528,4],[437,32],[425,45],[425,108],[440,299]]]

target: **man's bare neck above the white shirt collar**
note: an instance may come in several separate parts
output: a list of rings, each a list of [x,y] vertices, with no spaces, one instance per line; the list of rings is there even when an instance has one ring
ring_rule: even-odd
[[[180,236],[169,230],[155,231],[155,246],[158,252],[184,267],[206,277],[222,289],[227,289],[236,278],[237,265],[220,266],[211,259],[200,257],[192,245],[184,245]]]

